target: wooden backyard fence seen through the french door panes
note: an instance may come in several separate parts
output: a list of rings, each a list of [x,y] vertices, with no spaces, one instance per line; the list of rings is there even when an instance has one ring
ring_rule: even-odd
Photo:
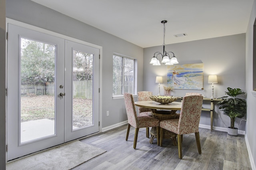
[[[92,99],[92,80],[73,81],[73,97]],[[21,95],[54,95],[54,83],[44,85],[21,85]]]

